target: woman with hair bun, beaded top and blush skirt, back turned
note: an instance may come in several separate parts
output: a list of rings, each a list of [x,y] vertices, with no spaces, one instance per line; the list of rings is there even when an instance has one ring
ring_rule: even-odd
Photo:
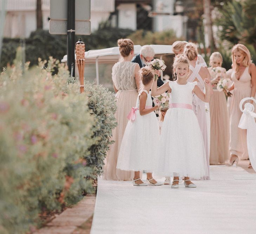
[[[117,112],[115,117],[118,126],[113,129],[112,139],[114,143],[110,145],[105,160],[103,178],[106,180],[132,180],[133,173],[117,169],[117,160],[121,141],[131,108],[134,106],[140,87],[140,74],[138,63],[131,62],[134,56],[133,41],[130,39],[119,39],[117,41],[121,60],[112,67],[112,80],[116,92]]]

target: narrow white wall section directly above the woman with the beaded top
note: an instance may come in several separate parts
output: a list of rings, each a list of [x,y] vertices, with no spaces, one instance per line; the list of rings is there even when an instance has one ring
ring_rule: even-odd
[[[118,27],[137,29],[136,4],[120,4],[118,6]]]

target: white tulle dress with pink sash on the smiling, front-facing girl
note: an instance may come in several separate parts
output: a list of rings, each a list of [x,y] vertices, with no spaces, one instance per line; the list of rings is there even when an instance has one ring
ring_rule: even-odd
[[[208,176],[204,141],[195,113],[192,110],[192,90],[197,82],[171,87],[169,109],[161,127],[158,175]]]

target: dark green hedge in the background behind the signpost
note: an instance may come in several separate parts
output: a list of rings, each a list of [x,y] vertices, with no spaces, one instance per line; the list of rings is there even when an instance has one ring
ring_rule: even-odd
[[[112,28],[109,25],[102,23],[99,29],[91,35],[76,36],[76,41],[79,37],[85,42],[86,51],[90,49],[102,49],[107,47],[117,46],[119,38],[125,38],[133,31],[130,29]],[[22,41],[18,38],[4,38],[2,45],[2,54],[0,59],[0,68],[6,67],[9,63],[13,64],[15,53]],[[53,35],[45,30],[37,30],[32,32],[29,38],[25,39],[26,61],[31,62],[31,66],[37,65],[38,57],[42,60],[53,56],[61,60],[67,54],[67,36]],[[1,70],[0,69],[0,70]]]

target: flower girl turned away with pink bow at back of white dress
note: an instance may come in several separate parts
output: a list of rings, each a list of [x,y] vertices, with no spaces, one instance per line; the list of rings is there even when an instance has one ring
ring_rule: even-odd
[[[117,168],[124,171],[134,171],[134,186],[162,185],[152,178],[156,165],[157,143],[159,141],[159,123],[152,107],[150,88],[153,75],[149,68],[140,69],[142,91],[139,92],[136,107],[133,107],[127,118],[129,122],[118,155]],[[140,179],[140,171],[147,171],[147,180]]]

